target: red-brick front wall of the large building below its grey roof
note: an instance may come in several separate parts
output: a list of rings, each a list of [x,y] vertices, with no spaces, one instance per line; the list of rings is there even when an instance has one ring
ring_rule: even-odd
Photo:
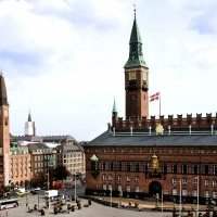
[[[155,152],[159,162],[158,175],[153,175],[151,158]],[[99,175],[92,174],[90,157],[99,158]],[[164,196],[217,197],[217,146],[215,148],[87,148],[87,190],[103,192],[112,188],[116,194],[145,196],[152,194],[151,183],[159,182]],[[177,167],[175,169],[175,167]],[[184,168],[187,167],[187,168]],[[103,191],[104,190],[104,191]]]

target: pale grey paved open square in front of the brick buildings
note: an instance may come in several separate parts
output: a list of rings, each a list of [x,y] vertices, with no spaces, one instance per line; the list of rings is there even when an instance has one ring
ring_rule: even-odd
[[[34,207],[35,204],[38,204],[38,195],[29,195],[28,197],[20,199],[20,206],[16,208],[11,208],[8,210],[1,210],[0,217],[36,217],[40,216],[38,212],[27,213],[26,202],[30,208]],[[50,213],[46,210],[46,216],[61,216],[61,217],[171,217],[171,214],[166,213],[152,213],[152,212],[136,212],[136,210],[127,210],[127,209],[118,209],[112,208],[107,206],[103,206],[97,203],[92,203],[89,207],[84,207],[84,204],[87,204],[86,200],[81,200],[82,208],[75,209],[75,212],[71,212],[69,214],[53,214],[53,208],[50,208]],[[41,196],[39,196],[39,207],[44,206],[44,201]],[[66,208],[65,208],[66,209]]]

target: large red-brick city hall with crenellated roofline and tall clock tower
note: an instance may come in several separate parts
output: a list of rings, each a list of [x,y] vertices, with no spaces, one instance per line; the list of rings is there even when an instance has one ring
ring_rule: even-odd
[[[217,116],[149,116],[149,67],[135,17],[125,64],[126,118],[85,144],[87,193],[217,199]]]

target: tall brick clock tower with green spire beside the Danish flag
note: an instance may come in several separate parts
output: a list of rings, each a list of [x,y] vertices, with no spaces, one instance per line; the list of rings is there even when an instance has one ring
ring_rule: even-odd
[[[129,41],[129,58],[125,64],[126,118],[149,117],[149,67],[143,59],[142,40],[135,21]]]

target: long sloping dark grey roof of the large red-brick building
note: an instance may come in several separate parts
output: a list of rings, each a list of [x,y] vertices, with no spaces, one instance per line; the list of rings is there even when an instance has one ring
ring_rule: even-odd
[[[217,135],[116,135],[105,131],[84,146],[217,146]]]

